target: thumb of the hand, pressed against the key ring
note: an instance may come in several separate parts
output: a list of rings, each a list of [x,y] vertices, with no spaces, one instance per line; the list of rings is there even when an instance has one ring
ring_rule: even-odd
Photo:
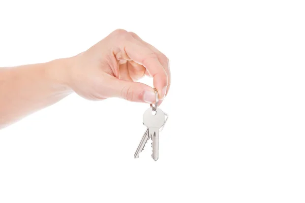
[[[149,104],[156,102],[155,90],[148,85],[139,82],[121,80],[110,77],[105,81],[109,85],[106,89],[107,97],[119,97],[129,101],[139,101]]]

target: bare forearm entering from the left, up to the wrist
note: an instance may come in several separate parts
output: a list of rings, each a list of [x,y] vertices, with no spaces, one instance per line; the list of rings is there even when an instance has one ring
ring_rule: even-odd
[[[69,95],[68,59],[0,68],[0,129]]]

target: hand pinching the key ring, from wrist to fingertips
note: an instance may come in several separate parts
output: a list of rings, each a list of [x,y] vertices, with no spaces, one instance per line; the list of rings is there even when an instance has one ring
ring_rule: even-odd
[[[145,75],[153,77],[161,100],[170,87],[168,58],[135,33],[126,30],[113,31],[69,60],[72,65],[69,67],[68,85],[86,99],[120,97],[154,103],[154,89],[135,82]]]

